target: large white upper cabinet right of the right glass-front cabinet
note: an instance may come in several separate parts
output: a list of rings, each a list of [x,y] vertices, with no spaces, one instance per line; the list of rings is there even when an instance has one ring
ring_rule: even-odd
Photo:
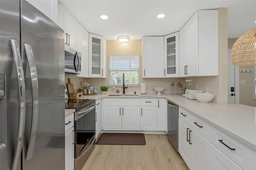
[[[199,10],[180,30],[180,77],[218,75],[218,10]]]

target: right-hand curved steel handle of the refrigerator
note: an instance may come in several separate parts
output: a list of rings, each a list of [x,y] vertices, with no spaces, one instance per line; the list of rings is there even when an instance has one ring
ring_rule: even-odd
[[[39,117],[39,94],[38,94],[38,77],[36,71],[36,63],[32,47],[29,44],[24,44],[25,52],[28,59],[28,67],[31,78],[32,88],[32,121],[30,129],[30,138],[28,142],[28,149],[26,153],[26,160],[29,160],[33,156],[34,147],[36,143],[36,132],[38,128],[38,117]]]

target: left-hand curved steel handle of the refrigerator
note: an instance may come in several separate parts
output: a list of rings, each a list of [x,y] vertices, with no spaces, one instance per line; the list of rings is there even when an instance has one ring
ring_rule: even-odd
[[[20,49],[18,42],[16,40],[10,40],[12,46],[12,53],[14,57],[14,63],[16,66],[16,73],[18,79],[18,94],[19,94],[19,114],[18,114],[18,132],[16,137],[16,146],[14,151],[14,156],[12,160],[12,170],[16,170],[19,157],[23,145],[24,129],[25,129],[25,116],[26,116],[26,96],[25,96],[25,79],[24,71],[21,61]]]

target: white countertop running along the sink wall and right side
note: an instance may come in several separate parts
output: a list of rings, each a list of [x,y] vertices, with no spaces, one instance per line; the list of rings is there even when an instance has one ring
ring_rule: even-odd
[[[181,95],[162,95],[161,97],[84,95],[80,99],[101,98],[166,98],[190,113],[200,117],[216,128],[226,132],[240,142],[256,150],[256,107],[241,104],[200,103]],[[67,110],[67,109],[65,109]],[[71,110],[71,109],[68,109]],[[66,111],[65,111],[66,115]]]

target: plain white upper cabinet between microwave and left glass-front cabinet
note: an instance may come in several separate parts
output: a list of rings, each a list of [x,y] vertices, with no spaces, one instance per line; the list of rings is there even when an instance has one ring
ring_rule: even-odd
[[[78,51],[81,53],[81,73],[78,77],[88,77],[88,40],[89,33],[78,24]]]

